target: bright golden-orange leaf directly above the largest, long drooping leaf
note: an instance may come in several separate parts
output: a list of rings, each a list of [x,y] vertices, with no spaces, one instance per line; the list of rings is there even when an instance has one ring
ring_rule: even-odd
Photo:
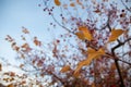
[[[93,39],[93,37],[92,37],[92,35],[86,26],[79,27],[79,30],[81,30],[83,33],[85,39],[87,39],[87,40]]]

